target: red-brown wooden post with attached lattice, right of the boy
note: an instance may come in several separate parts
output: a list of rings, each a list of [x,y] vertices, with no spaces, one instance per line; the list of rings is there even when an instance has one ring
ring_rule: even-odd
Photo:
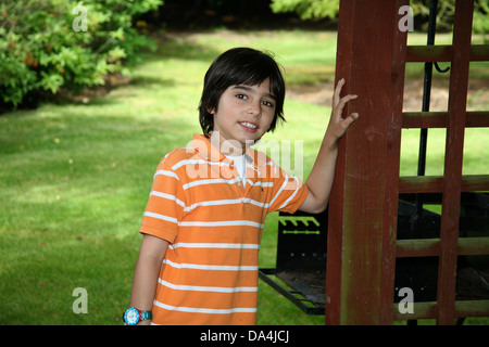
[[[398,10],[409,0],[341,0],[336,80],[360,98],[344,114],[361,117],[340,142],[328,216],[326,324],[391,324],[393,320],[489,316],[489,300],[455,301],[459,255],[488,255],[489,237],[459,239],[461,192],[489,191],[489,175],[462,176],[465,127],[488,127],[488,112],[466,112],[471,61],[489,60],[471,46],[474,1],[457,0],[452,46],[406,47]],[[446,113],[402,112],[406,62],[451,62]],[[402,128],[446,128],[443,177],[400,178]],[[397,240],[400,193],[442,193],[439,239]],[[397,257],[438,256],[435,303],[414,314],[393,305]]]

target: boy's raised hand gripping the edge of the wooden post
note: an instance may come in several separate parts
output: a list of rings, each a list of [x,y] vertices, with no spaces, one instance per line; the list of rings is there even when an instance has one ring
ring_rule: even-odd
[[[331,137],[333,141],[337,141],[340,139],[344,132],[347,132],[348,128],[359,118],[358,113],[351,114],[349,117],[343,118],[342,112],[344,105],[356,98],[358,95],[348,94],[343,98],[340,98],[341,88],[344,86],[344,78],[341,78],[338,81],[338,86],[335,88],[335,93],[333,94],[333,111],[331,118],[329,119],[329,125],[327,129],[327,133]]]

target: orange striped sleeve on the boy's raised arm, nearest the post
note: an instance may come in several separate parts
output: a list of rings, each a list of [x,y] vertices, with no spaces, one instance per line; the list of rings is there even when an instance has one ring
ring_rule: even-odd
[[[267,174],[271,178],[274,178],[268,213],[281,210],[293,214],[301,207],[308,196],[306,185],[298,177],[289,176],[275,163],[269,162],[268,165],[269,171]]]

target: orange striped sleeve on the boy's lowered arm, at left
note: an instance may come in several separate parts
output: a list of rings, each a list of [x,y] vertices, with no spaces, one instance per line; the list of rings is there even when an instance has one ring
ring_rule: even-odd
[[[160,163],[154,174],[140,232],[173,243],[178,233],[185,196],[183,182],[167,164],[167,157]]]

